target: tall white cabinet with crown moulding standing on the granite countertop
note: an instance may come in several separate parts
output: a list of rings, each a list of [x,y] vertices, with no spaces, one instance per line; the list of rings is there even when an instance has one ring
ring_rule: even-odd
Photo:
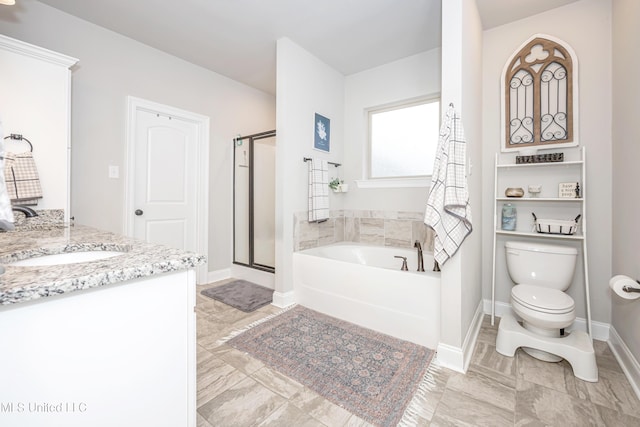
[[[77,59],[0,35],[0,119],[4,136],[33,145],[43,198],[36,209],[70,213],[71,70]],[[22,140],[4,140],[7,151],[28,151]]]

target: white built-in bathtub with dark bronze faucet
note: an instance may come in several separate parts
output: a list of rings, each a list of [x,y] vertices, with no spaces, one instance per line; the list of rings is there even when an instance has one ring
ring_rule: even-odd
[[[409,271],[401,271],[407,258]],[[293,254],[296,301],[312,310],[435,349],[440,273],[417,272],[416,250],[337,243]]]

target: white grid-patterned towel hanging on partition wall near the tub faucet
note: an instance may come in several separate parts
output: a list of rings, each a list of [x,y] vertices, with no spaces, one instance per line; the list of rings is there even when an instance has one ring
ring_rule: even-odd
[[[440,128],[424,223],[434,231],[434,258],[443,265],[471,233],[462,120],[449,106]]]

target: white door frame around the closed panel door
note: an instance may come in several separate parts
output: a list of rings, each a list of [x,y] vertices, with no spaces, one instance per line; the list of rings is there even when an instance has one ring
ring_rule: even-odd
[[[133,210],[135,195],[135,141],[136,115],[138,111],[147,111],[162,116],[179,118],[194,123],[197,127],[196,137],[196,251],[205,255],[205,263],[196,268],[196,282],[206,283],[209,271],[209,117],[157,102],[133,96],[127,96],[127,138],[125,153],[124,179],[125,202],[123,212],[124,234],[133,237]]]

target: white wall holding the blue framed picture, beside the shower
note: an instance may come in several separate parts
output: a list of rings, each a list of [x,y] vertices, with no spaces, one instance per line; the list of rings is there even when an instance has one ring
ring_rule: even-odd
[[[293,302],[293,214],[307,209],[303,157],[343,163],[344,76],[286,38],[278,40],[277,64],[274,304],[286,305]],[[331,120],[329,154],[313,149],[315,113]],[[341,209],[337,197],[330,203]]]

